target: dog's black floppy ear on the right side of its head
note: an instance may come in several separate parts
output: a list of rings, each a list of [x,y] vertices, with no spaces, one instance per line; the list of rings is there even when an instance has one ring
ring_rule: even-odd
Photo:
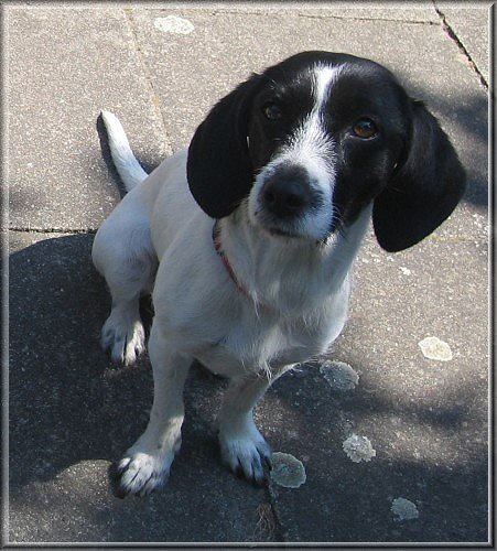
[[[412,133],[406,161],[376,197],[372,225],[389,252],[430,235],[452,213],[465,190],[465,172],[437,120],[412,101]]]

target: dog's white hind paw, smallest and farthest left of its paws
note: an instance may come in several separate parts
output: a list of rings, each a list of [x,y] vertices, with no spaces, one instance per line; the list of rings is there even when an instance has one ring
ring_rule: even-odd
[[[101,329],[101,347],[112,361],[134,364],[145,348],[145,332],[140,320],[112,312]]]

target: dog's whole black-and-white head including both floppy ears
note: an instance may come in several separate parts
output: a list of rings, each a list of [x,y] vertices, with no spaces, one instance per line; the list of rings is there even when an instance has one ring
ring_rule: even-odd
[[[369,60],[304,52],[223,98],[188,150],[193,196],[213,218],[247,198],[273,236],[325,240],[374,201],[388,251],[431,234],[455,208],[464,170],[436,119]]]

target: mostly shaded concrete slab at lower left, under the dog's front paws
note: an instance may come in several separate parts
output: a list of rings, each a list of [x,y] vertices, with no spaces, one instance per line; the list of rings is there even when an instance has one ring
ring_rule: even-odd
[[[147,357],[117,369],[99,348],[110,300],[91,241],[45,239],[10,257],[11,541],[278,540],[258,525],[267,490],[220,465],[214,414],[225,382],[199,369],[168,487],[148,499],[111,495],[107,468],[147,424],[152,377]]]

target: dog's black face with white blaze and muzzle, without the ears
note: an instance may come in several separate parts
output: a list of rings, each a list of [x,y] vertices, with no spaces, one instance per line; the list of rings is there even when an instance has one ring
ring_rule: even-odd
[[[253,99],[249,213],[271,234],[323,240],[382,191],[410,128],[404,94],[378,65],[302,62],[266,75]]]

